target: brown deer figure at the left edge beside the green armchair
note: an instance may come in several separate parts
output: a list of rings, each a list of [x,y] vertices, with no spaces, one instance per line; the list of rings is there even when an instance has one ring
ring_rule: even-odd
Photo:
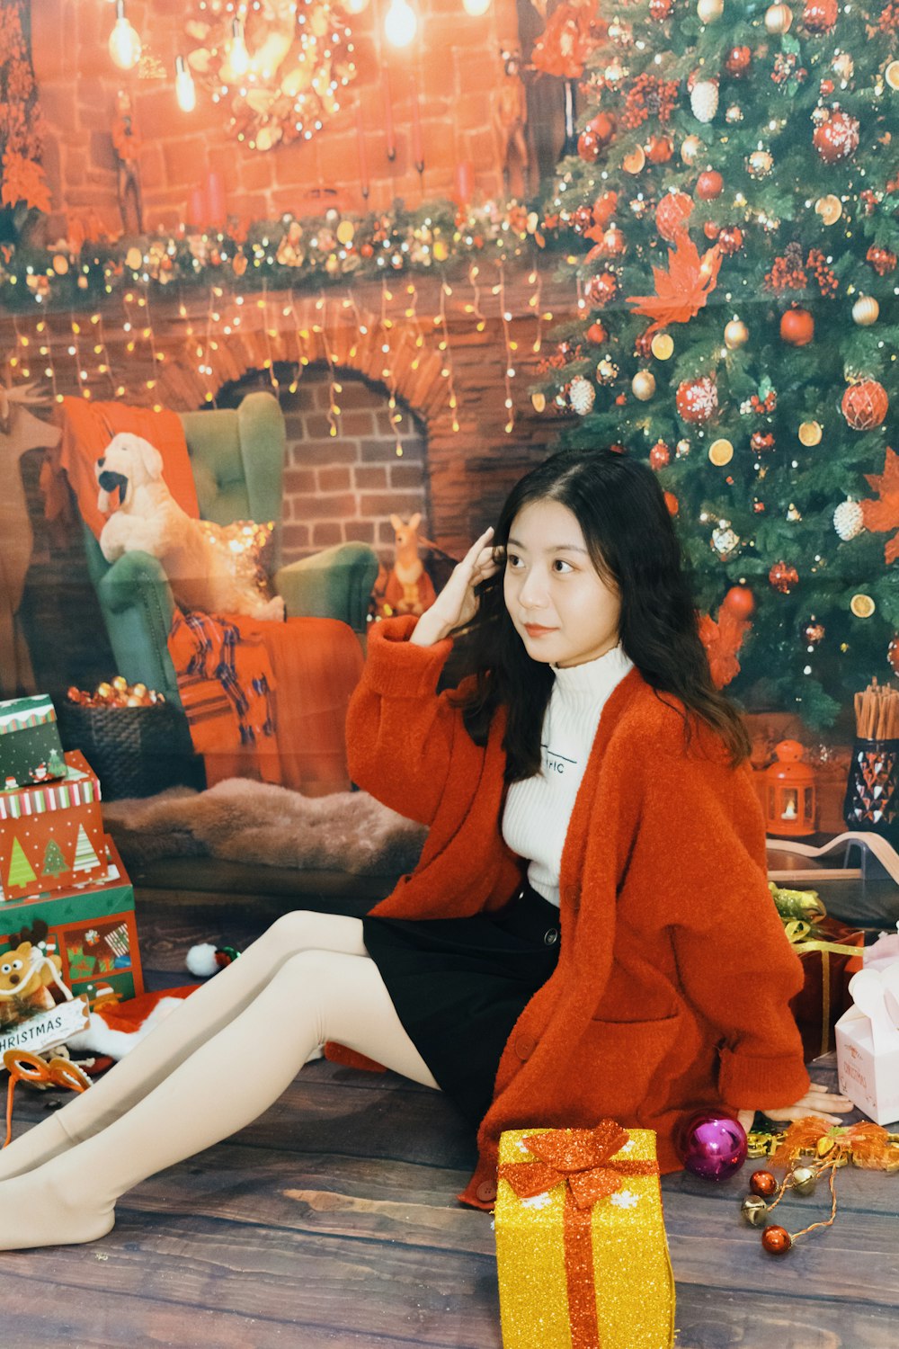
[[[59,426],[40,421],[32,407],[47,399],[35,384],[7,389],[0,384],[0,697],[34,693],[34,673],[19,606],[31,563],[34,533],[19,460],[28,449],[51,449],[62,434]]]

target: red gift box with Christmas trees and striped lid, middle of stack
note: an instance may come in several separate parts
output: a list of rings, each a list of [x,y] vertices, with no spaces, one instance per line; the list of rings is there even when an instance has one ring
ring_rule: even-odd
[[[102,876],[100,781],[80,750],[69,750],[63,768],[57,781],[0,791],[0,888],[7,901],[90,885]]]

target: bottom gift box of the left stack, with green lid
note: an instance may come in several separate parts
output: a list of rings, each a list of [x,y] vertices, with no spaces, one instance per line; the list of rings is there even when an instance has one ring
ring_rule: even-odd
[[[108,838],[101,855],[102,876],[86,888],[0,905],[0,960],[30,942],[59,958],[61,979],[89,1002],[143,993],[135,893]]]

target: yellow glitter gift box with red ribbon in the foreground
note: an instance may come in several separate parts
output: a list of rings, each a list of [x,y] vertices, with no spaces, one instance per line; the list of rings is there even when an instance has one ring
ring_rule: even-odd
[[[504,1349],[670,1349],[674,1275],[655,1133],[509,1129],[496,1263]]]

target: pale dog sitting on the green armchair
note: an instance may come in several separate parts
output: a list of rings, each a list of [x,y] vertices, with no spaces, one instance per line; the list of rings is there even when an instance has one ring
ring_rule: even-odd
[[[181,509],[163,482],[162,468],[159,451],[128,432],[113,436],[97,460],[97,506],[104,514],[113,509],[100,534],[106,561],[133,552],[158,557],[181,608],[283,619],[279,595],[266,602],[241,592],[225,549],[213,541],[217,526],[208,521],[201,525]]]

